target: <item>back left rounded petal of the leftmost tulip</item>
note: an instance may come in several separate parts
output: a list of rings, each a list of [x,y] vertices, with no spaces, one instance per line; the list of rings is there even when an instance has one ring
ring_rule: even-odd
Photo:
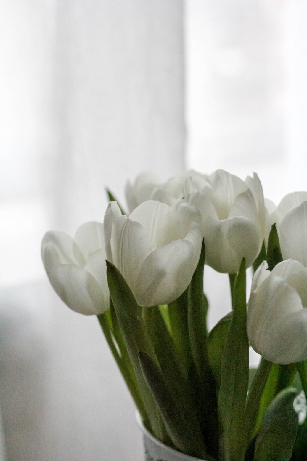
[[[85,260],[71,236],[65,232],[49,231],[41,242],[41,258],[47,275],[57,264],[83,266]]]

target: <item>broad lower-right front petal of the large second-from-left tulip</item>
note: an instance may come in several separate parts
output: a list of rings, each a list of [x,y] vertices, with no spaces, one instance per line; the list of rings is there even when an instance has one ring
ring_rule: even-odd
[[[188,287],[201,253],[201,232],[193,225],[186,238],[155,249],[136,278],[135,296],[142,306],[168,304]]]

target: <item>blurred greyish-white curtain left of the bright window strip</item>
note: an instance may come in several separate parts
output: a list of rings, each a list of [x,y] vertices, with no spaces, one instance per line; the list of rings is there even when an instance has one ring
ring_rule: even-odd
[[[183,168],[181,0],[0,3],[0,406],[8,461],[136,461],[141,435],[97,319],[40,260],[103,220],[108,186]],[[43,280],[43,281],[41,281]]]

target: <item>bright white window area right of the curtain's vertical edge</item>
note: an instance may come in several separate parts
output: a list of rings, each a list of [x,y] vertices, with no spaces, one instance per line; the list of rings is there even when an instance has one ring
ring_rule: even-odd
[[[256,171],[276,205],[307,190],[306,2],[189,0],[185,13],[187,165]],[[205,268],[211,327],[228,284]]]

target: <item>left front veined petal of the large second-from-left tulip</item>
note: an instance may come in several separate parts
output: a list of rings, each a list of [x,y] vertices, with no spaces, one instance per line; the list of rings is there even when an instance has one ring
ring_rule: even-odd
[[[139,207],[141,206],[142,204]],[[132,291],[137,272],[153,249],[153,244],[140,223],[124,215],[116,219],[111,236],[112,262]]]

